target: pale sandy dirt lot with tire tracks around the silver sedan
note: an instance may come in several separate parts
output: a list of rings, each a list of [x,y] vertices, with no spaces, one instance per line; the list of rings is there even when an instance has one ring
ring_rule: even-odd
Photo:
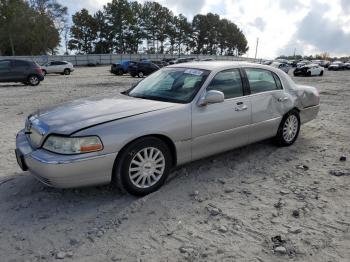
[[[32,111],[134,79],[98,67],[38,87],[0,84],[0,261],[349,261],[349,79],[295,79],[319,89],[322,107],[292,147],[264,141],[197,161],[144,198],[47,188],[13,154]]]

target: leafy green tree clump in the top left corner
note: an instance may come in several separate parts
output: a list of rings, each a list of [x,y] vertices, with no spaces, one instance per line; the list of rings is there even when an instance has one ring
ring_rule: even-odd
[[[66,24],[55,0],[0,0],[0,55],[54,54]]]

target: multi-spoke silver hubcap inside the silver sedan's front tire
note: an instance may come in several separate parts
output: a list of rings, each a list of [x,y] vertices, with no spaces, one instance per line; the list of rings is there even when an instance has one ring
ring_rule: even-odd
[[[157,148],[147,147],[140,150],[131,160],[129,177],[138,188],[149,188],[162,177],[165,169],[165,158]]]

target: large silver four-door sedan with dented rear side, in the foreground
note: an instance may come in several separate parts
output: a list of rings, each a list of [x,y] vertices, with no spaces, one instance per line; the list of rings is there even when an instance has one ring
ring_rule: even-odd
[[[269,66],[191,62],[165,67],[115,97],[28,116],[16,157],[43,183],[113,183],[135,195],[173,167],[267,138],[292,145],[319,111],[316,88]]]

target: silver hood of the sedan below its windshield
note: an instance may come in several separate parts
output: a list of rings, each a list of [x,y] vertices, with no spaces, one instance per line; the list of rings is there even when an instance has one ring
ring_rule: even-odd
[[[174,103],[132,98],[89,98],[38,110],[29,119],[43,133],[69,135],[78,130],[176,106]]]

